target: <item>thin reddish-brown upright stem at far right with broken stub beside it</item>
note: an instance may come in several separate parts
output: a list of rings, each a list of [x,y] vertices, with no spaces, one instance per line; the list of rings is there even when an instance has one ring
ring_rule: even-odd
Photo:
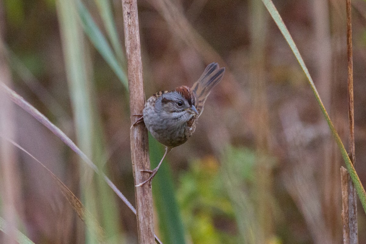
[[[347,12],[347,63],[348,63],[348,118],[350,124],[349,135],[349,156],[352,164],[355,166],[355,138],[354,138],[354,102],[353,102],[353,61],[352,61],[352,25],[351,25],[351,0],[346,0],[346,12]],[[343,181],[342,181],[343,182]],[[347,240],[344,243],[357,244],[358,243],[358,230],[357,230],[357,202],[356,202],[356,189],[352,183],[351,178],[348,176],[348,189],[347,199],[348,205],[343,205],[348,210],[344,213],[348,213],[348,218],[344,217],[343,226],[343,239]],[[343,190],[343,187],[342,187]],[[346,197],[342,192],[342,199]],[[342,200],[343,204],[345,199]],[[348,220],[348,221],[347,221]],[[347,222],[344,222],[347,221]],[[347,228],[349,231],[347,231]]]

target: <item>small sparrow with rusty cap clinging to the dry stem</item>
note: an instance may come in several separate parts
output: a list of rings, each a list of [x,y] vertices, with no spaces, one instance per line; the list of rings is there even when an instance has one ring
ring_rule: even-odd
[[[141,169],[150,173],[150,177],[137,187],[147,182],[151,187],[151,181],[168,152],[190,138],[206,98],[223,78],[224,72],[225,68],[220,68],[217,63],[209,64],[192,88],[180,86],[172,91],[159,91],[146,101],[142,115],[138,115],[141,117],[132,126],[143,121],[151,135],[165,146],[165,154],[155,169]]]

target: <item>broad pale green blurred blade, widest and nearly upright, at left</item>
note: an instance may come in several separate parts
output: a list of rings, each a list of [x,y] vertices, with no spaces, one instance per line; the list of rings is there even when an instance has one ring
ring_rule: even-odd
[[[86,64],[84,56],[83,32],[78,24],[78,13],[73,1],[57,1],[57,14],[59,16],[68,90],[74,112],[76,137],[81,150],[91,158],[91,155],[93,155],[93,120],[91,115],[91,97],[88,89],[86,89],[89,79],[86,71],[88,64]],[[83,165],[80,171],[81,200],[86,208],[94,214],[97,209],[97,198],[94,195],[95,189],[91,187],[91,185],[94,186],[94,182],[87,181],[86,176],[89,176],[90,173],[84,173],[88,172],[85,165]],[[85,222],[89,225],[91,219],[86,218]],[[85,243],[97,244],[99,238],[96,233],[96,231],[85,229]]]

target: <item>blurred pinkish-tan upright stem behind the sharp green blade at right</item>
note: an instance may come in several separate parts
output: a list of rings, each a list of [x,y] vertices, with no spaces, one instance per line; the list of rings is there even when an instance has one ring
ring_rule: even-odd
[[[311,2],[312,16],[314,16],[314,47],[317,53],[316,59],[314,60],[314,67],[316,68],[313,78],[325,108],[328,112],[335,113],[337,108],[334,106],[335,103],[332,103],[332,91],[334,91],[334,88],[337,87],[337,85],[335,82],[332,82],[332,80],[341,80],[335,78],[337,70],[334,66],[337,62],[334,62],[332,59],[336,59],[337,57],[336,52],[334,51],[334,45],[337,38],[333,37],[333,35],[337,36],[337,34],[331,30],[335,27],[333,26],[333,23],[330,23],[331,21],[334,21],[335,18],[330,18],[330,16],[333,15],[330,15],[328,1],[312,0]],[[325,125],[325,120],[321,122],[324,126],[327,126]],[[333,143],[332,135],[329,133],[330,131],[325,132],[324,142],[320,146],[323,151],[321,156],[321,160],[323,161],[323,177],[320,184],[323,187],[319,188],[319,190],[321,191],[321,195],[324,196],[322,200],[323,207],[321,209],[324,213],[325,225],[328,226],[328,229],[332,230],[332,243],[335,243],[337,242],[335,239],[339,238],[338,226],[341,222],[339,216],[341,209],[339,208],[340,205],[338,202],[340,198],[340,184],[337,184],[340,183],[338,170],[340,160],[339,157],[337,157],[338,149],[336,148],[336,144]],[[312,168],[311,170],[315,173],[317,169]]]

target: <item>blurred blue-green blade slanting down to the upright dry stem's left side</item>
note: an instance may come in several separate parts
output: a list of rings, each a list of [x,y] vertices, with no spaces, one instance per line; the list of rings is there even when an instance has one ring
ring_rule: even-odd
[[[107,39],[102,34],[100,29],[94,22],[93,18],[91,18],[89,11],[86,9],[83,3],[78,0],[77,6],[82,27],[85,33],[127,90],[127,76],[119,65],[116,56],[113,54],[112,49],[107,42]]]

